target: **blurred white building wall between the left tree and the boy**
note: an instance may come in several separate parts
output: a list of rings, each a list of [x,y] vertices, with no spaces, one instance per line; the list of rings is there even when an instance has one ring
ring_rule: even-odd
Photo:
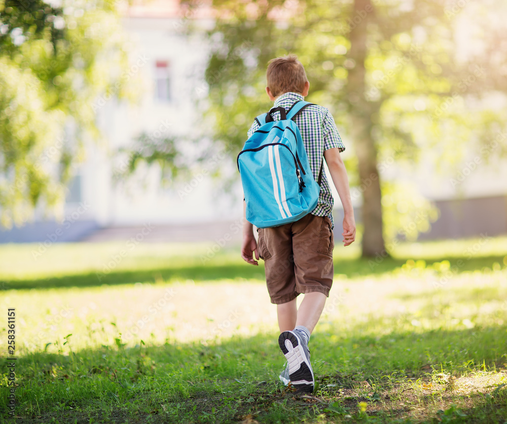
[[[144,62],[137,70],[144,88],[136,104],[112,99],[100,109],[99,125],[111,152],[129,145],[142,132],[154,138],[177,135],[183,140],[186,136],[190,139],[198,119],[195,89],[203,86],[208,48],[199,32],[185,35],[182,26],[187,24],[181,18],[124,19],[125,29],[137,45],[132,60],[140,58]],[[161,63],[167,64],[169,70],[170,99],[165,101],[156,98]],[[231,208],[229,197],[217,196],[218,182],[201,175],[199,169],[191,175],[190,187],[185,182],[162,187],[157,167],[141,170],[137,181],[115,186],[112,176],[125,164],[112,164],[104,149],[92,147],[92,150],[81,171],[83,192],[102,226],[209,221],[241,214],[240,206]]]

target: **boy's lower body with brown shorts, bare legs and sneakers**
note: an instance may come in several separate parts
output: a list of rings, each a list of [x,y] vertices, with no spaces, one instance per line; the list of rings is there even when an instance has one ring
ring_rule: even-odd
[[[271,301],[277,304],[281,331],[278,343],[289,363],[289,378],[285,380],[290,379],[298,390],[305,392],[313,391],[314,387],[309,333],[318,322],[333,280],[333,238],[330,221],[326,219],[307,215],[292,225],[259,230],[259,251],[265,260],[268,291]],[[299,312],[298,293],[305,293],[306,298]],[[296,324],[306,328],[296,328]],[[284,381],[282,375],[280,379]]]

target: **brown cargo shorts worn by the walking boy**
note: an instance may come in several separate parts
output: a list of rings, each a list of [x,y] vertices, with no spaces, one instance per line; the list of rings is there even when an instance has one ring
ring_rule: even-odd
[[[327,216],[308,214],[296,222],[259,228],[258,249],[265,262],[271,303],[289,302],[300,293],[329,297],[334,246]]]

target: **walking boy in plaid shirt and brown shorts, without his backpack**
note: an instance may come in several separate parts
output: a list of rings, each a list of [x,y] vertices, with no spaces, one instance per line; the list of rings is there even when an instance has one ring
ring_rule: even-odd
[[[269,62],[266,92],[274,107],[289,109],[308,95],[310,83],[296,56],[278,57]],[[280,112],[273,113],[280,119]],[[329,110],[318,105],[306,107],[295,118],[306,148],[315,181],[325,159],[331,178],[343,205],[343,243],[355,240],[355,221],[350,199],[348,177],[340,152],[345,147]],[[250,137],[259,124],[254,122]],[[323,158],[323,159],[322,159]],[[244,204],[244,210],[246,204]],[[312,392],[315,378],[310,363],[308,341],[333,283],[333,196],[325,172],[322,173],[317,206],[308,215],[292,223],[258,229],[259,241],[253,236],[253,225],[243,212],[241,257],[252,265],[253,258],[264,259],[266,283],[271,302],[277,305],[280,336],[278,343],[287,359],[280,380],[300,392]],[[296,297],[304,293],[297,310]]]

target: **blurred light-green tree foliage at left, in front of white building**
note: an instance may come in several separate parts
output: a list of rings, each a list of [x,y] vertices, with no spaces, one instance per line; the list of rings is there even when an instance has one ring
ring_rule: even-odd
[[[115,0],[0,0],[0,224],[61,214],[65,183],[98,139],[96,111],[127,95]]]

